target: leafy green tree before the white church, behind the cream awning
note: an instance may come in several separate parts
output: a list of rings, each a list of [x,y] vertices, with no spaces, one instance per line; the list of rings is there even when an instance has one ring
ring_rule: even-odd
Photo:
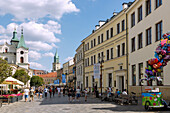
[[[15,74],[12,77],[24,82],[24,84],[26,84],[28,80],[30,80],[30,76],[28,75],[28,73],[25,72],[24,69],[16,70]]]

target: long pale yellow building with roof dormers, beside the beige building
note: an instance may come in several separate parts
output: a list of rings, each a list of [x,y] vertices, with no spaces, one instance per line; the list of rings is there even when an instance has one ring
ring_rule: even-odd
[[[127,4],[125,4],[127,5]],[[127,54],[126,54],[126,8],[107,21],[99,21],[92,34],[82,40],[84,43],[85,87],[89,91],[97,85],[100,91],[100,80],[94,78],[94,64],[103,56],[102,88],[111,87],[127,89]]]

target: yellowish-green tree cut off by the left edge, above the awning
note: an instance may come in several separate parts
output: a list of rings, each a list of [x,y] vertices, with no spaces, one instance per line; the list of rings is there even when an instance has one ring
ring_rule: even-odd
[[[6,60],[0,58],[0,83],[9,76],[12,76],[12,68],[8,65]]]

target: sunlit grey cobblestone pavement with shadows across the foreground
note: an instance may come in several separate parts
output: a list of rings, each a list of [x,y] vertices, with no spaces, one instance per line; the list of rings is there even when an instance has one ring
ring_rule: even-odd
[[[15,102],[10,105],[5,105],[0,108],[0,113],[112,113],[112,112],[129,112],[142,113],[146,112],[143,106],[140,105],[124,105],[120,106],[114,103],[101,102],[100,99],[89,97],[87,102],[84,102],[84,97],[81,97],[80,102],[68,102],[68,97],[61,96],[37,99],[33,102]],[[151,111],[147,113],[162,113],[169,111]]]

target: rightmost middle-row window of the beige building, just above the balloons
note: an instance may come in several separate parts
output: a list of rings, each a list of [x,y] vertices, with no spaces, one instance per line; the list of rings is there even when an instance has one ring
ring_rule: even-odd
[[[156,24],[156,41],[161,40],[162,36],[162,21]]]

